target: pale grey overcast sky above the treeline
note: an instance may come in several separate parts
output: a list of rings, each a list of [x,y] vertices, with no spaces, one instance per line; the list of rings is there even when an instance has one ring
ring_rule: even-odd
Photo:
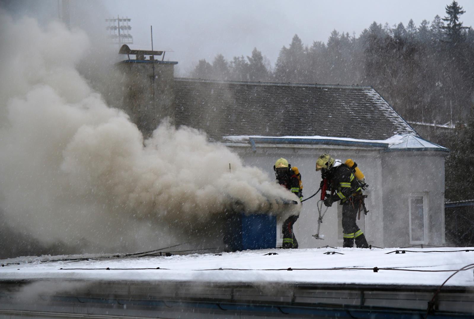
[[[179,72],[185,73],[200,59],[212,62],[221,53],[231,60],[236,55],[251,55],[254,47],[274,65],[280,49],[289,45],[294,34],[310,46],[313,41],[327,42],[334,29],[359,36],[374,21],[406,26],[412,18],[419,26],[423,19],[431,22],[437,14],[443,18],[445,6],[452,0],[72,1],[76,7],[78,3],[87,7],[82,15],[100,31],[106,26],[103,18],[132,18],[132,47],[151,47],[153,25],[154,48],[173,50],[165,59],[178,61]],[[57,0],[0,0],[3,2],[11,11],[48,17],[40,12],[49,10],[50,17],[57,17]],[[466,11],[461,16],[464,26],[474,26],[474,0],[458,3]],[[102,26],[99,21],[104,21]]]

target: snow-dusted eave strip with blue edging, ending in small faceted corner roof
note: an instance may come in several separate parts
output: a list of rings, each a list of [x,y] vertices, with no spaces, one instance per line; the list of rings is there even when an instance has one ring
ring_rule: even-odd
[[[261,144],[303,144],[303,145],[338,145],[357,146],[365,148],[379,148],[385,151],[444,151],[449,152],[446,147],[428,142],[421,137],[410,134],[394,135],[384,140],[322,137],[322,136],[225,136],[224,140],[233,143],[248,142],[255,149],[256,143]]]

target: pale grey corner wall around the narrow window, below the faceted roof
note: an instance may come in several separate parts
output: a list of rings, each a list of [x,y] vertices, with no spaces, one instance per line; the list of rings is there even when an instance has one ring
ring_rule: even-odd
[[[446,152],[401,151],[383,156],[384,244],[444,244]],[[423,240],[410,240],[410,196],[424,199]]]

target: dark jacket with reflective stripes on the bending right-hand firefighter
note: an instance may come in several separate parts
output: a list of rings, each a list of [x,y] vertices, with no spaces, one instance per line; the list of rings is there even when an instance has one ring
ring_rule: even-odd
[[[362,195],[360,183],[352,170],[346,165],[341,164],[333,167],[328,172],[329,190],[334,191],[331,196],[333,201],[341,201],[341,204],[348,202],[350,196]]]

